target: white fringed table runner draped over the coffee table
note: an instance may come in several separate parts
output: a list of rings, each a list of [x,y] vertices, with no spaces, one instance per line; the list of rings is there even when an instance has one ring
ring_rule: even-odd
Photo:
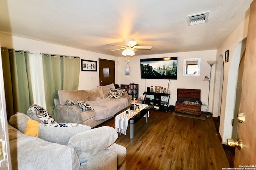
[[[148,106],[147,104],[136,104],[136,105],[139,105],[139,108],[140,108],[139,111],[142,111],[142,109]],[[126,111],[128,111],[128,114],[126,113]],[[139,111],[131,111],[130,109],[127,109],[122,113],[120,113],[119,115],[117,115],[115,117],[116,131],[118,133],[122,133],[126,135],[129,119],[132,118],[134,115],[136,115]],[[149,111],[148,111],[148,117],[149,117]]]

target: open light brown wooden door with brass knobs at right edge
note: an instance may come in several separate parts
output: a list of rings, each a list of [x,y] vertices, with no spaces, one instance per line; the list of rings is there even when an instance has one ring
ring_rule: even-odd
[[[238,123],[237,139],[242,141],[243,148],[236,147],[234,167],[249,166],[256,168],[256,0],[250,6],[250,18],[246,53],[244,58],[244,74],[240,113],[244,113],[244,123]],[[236,140],[236,139],[234,139]]]

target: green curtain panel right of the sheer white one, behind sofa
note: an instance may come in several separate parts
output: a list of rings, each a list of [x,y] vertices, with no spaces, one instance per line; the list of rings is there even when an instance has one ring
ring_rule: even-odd
[[[46,109],[54,117],[54,98],[58,98],[58,90],[78,90],[80,74],[80,57],[43,55],[44,88]]]

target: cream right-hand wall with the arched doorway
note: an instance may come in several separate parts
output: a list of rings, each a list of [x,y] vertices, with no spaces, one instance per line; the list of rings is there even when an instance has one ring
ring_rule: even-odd
[[[247,37],[249,16],[227,37],[217,49],[217,56],[223,56],[229,49],[229,61],[224,63],[224,79],[222,89],[222,104],[220,111],[220,135],[222,143],[232,137],[232,119],[234,118],[234,100],[236,97],[236,80],[240,57],[244,52],[244,39]],[[232,73],[232,74],[230,74]],[[235,73],[235,74],[233,74]],[[235,120],[236,121],[236,120]]]

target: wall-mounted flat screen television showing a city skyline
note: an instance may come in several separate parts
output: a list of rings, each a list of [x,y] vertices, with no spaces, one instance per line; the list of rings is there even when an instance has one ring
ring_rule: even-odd
[[[140,78],[177,80],[178,57],[140,59]]]

